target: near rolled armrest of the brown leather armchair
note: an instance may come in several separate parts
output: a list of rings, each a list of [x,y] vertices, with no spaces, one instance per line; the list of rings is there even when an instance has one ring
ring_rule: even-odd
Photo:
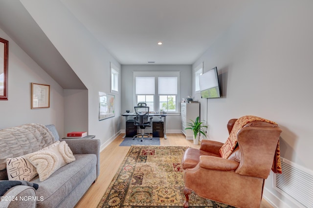
[[[199,164],[200,167],[205,169],[223,170],[223,171],[236,170],[237,167],[239,166],[239,163],[236,161],[206,155],[200,156]]]

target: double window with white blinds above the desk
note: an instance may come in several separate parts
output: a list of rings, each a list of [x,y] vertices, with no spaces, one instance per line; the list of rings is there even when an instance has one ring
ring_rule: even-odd
[[[179,72],[134,72],[135,105],[144,102],[150,111],[179,112]]]

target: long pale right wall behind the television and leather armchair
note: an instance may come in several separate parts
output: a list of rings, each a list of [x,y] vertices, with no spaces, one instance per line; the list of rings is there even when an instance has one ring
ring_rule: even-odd
[[[223,83],[221,99],[195,95],[207,104],[201,115],[207,116],[209,139],[224,142],[231,118],[267,118],[283,130],[281,156],[313,170],[312,9],[312,0],[255,1],[193,64],[204,62],[205,71],[217,66]],[[283,199],[268,179],[265,197],[271,194]]]

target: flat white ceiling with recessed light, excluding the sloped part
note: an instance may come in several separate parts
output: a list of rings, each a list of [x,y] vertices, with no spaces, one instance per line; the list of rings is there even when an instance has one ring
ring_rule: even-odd
[[[121,64],[192,64],[252,1],[61,2]]]

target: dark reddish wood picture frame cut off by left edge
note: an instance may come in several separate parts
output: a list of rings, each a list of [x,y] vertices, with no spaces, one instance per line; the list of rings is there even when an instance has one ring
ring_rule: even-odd
[[[8,100],[9,42],[0,38],[0,100]],[[2,64],[3,59],[3,64]]]

